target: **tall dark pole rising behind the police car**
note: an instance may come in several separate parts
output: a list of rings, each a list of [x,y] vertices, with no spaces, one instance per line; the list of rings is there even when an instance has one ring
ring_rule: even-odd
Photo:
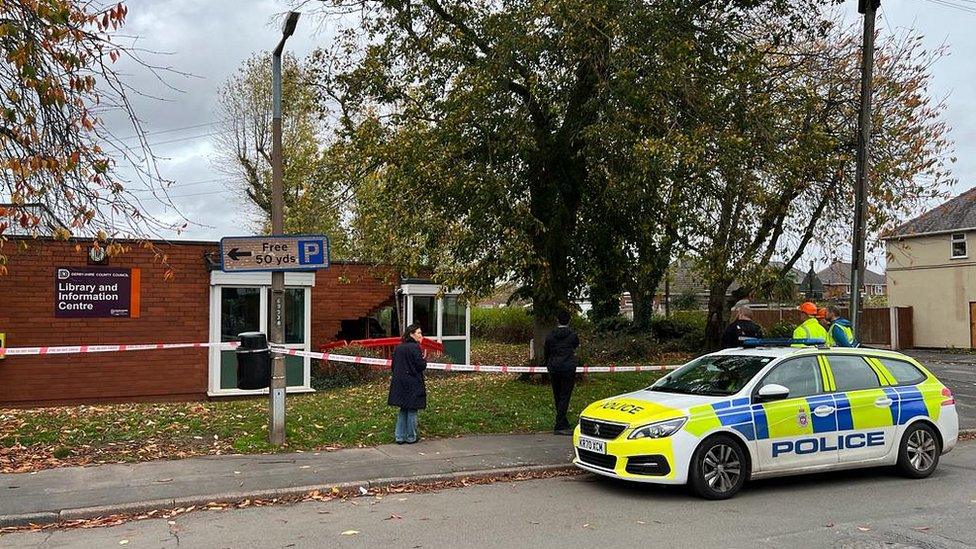
[[[874,20],[881,0],[858,0],[864,14],[861,51],[861,113],[857,131],[857,182],[854,188],[854,242],[851,249],[851,324],[861,336],[861,287],[864,286],[864,241],[867,239],[867,189],[871,165],[871,78],[874,73]]]

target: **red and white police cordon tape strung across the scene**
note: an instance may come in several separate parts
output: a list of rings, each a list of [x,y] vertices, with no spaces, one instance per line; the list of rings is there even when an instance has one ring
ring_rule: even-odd
[[[162,349],[202,349],[217,347],[222,350],[233,350],[240,346],[240,342],[215,342],[215,343],[148,343],[148,344],[118,344],[118,345],[62,345],[46,347],[0,347],[0,357],[5,356],[38,356],[38,355],[68,355],[84,353],[118,353],[126,351],[156,351]],[[327,360],[333,362],[347,362],[351,364],[367,364],[389,368],[393,361],[387,358],[372,358],[356,355],[340,355],[333,353],[318,353],[314,351],[302,351],[299,349],[288,349],[272,345],[271,351],[276,354],[314,358],[317,360]],[[580,366],[576,369],[579,373],[618,373],[618,372],[660,372],[664,370],[674,370],[680,364],[655,364],[649,366]],[[428,362],[427,368],[431,370],[444,370],[446,372],[486,372],[500,374],[544,374],[547,372],[545,366],[504,366],[496,364],[449,364],[441,362]]]

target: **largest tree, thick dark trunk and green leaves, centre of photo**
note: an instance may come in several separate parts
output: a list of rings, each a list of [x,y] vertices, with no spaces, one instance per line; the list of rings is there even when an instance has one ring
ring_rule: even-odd
[[[670,110],[694,95],[681,86],[686,69],[721,74],[745,21],[800,19],[819,2],[325,4],[340,39],[318,52],[317,82],[341,122],[363,253],[473,295],[517,281],[541,341],[582,289],[584,204],[623,165],[601,156],[617,133],[606,121],[636,143],[649,111],[652,139],[664,139]],[[678,91],[688,93],[662,96]],[[657,169],[620,185],[673,186]],[[641,245],[648,262],[666,248]]]

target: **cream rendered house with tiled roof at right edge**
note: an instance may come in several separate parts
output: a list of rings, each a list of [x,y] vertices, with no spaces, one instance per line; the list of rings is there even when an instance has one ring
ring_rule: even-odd
[[[976,188],[884,236],[888,301],[914,309],[915,345],[976,348]]]

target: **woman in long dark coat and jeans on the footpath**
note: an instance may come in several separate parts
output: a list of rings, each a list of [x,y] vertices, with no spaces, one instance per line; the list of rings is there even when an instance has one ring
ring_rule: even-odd
[[[387,404],[400,407],[396,425],[397,444],[413,444],[420,440],[417,436],[417,410],[427,407],[427,387],[424,385],[427,361],[420,351],[420,340],[423,338],[420,325],[411,324],[393,351],[393,376],[390,378]]]

